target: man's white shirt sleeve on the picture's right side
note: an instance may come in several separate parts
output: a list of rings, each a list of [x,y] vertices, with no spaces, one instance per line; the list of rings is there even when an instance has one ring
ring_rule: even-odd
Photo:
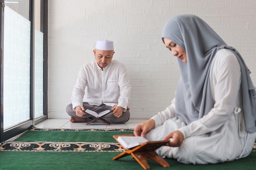
[[[127,106],[130,102],[131,86],[126,67],[121,63],[119,67],[118,86],[120,88],[120,96],[117,106],[121,106],[124,108],[124,112],[126,112]]]

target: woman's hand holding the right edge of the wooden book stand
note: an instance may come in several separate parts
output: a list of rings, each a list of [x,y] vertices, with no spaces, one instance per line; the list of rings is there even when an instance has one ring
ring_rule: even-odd
[[[166,146],[171,146],[171,147],[178,147],[181,146],[184,136],[180,130],[175,130],[174,132],[171,132],[169,135],[167,135],[163,140],[172,140],[166,144]]]

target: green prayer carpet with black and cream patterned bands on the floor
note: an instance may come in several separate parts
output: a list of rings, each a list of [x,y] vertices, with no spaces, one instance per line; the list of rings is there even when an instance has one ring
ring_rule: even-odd
[[[15,141],[0,146],[0,170],[144,170],[129,155],[113,161],[124,150],[113,135],[132,134],[133,129],[31,128]],[[164,168],[151,159],[152,170],[255,170],[256,145],[250,155],[231,162],[186,165],[165,159]]]

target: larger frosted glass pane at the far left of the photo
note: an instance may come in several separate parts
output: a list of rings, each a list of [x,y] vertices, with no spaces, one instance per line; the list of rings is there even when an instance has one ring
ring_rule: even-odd
[[[30,119],[31,23],[4,8],[4,129]]]

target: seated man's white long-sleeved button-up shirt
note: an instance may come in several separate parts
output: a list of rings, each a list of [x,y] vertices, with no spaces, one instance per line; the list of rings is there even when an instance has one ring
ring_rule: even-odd
[[[72,91],[72,107],[83,106],[83,102],[99,106],[118,104],[126,111],[130,102],[130,80],[124,64],[112,60],[102,69],[96,61],[84,64]],[[86,91],[86,95],[85,95]]]

